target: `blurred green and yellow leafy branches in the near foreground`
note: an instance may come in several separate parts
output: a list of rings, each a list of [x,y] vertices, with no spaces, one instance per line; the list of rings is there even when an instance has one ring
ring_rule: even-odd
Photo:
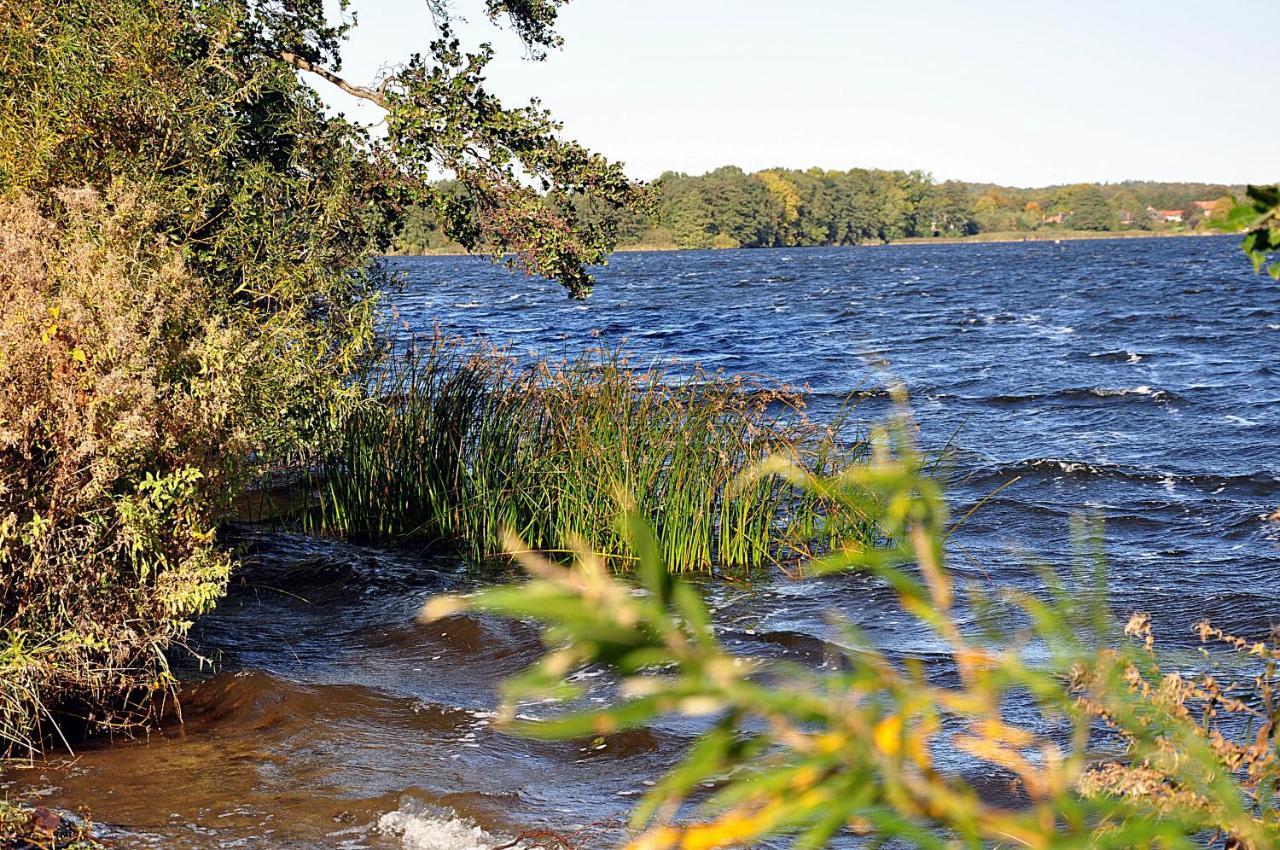
[[[708,731],[636,808],[631,847],[753,846],[783,835],[796,847],[820,847],[847,832],[922,847],[1280,842],[1280,650],[1203,625],[1202,638],[1248,670],[1240,690],[1162,663],[1144,616],[1130,620],[1128,639],[1114,629],[1100,563],[1071,582],[1047,572],[1041,595],[975,593],[969,604],[979,622],[986,612],[1004,630],[966,634],[945,563],[941,492],[902,424],[878,435],[869,465],[831,477],[786,461],[760,471],[876,517],[893,543],[851,538],[810,572],[861,570],[892,586],[936,641],[928,666],[883,654],[851,623],[838,623],[835,672],[732,654],[635,513],[627,527],[643,593],[582,550],[568,568],[521,556],[530,582],[440,598],[424,611],[545,623],[548,654],[506,691],[507,723],[518,732],[596,736],[663,714],[708,718]],[[512,536],[509,547],[522,544]],[[1010,622],[1020,626],[1010,631]],[[572,700],[580,691],[566,676],[588,664],[621,676],[614,705],[512,719],[524,700]],[[1009,780],[1006,792],[972,778],[992,773]]]

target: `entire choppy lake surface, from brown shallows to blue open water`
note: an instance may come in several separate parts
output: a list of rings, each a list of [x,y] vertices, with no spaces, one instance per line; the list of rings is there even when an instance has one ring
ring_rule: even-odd
[[[1204,616],[1280,621],[1280,526],[1263,520],[1280,502],[1280,310],[1234,239],[628,253],[588,303],[484,260],[394,264],[408,326],[517,353],[626,342],[808,385],[818,415],[887,367],[924,442],[954,438],[959,508],[1018,479],[956,536],[969,579],[1032,586],[1028,557],[1064,562],[1085,515],[1106,521],[1115,607],[1151,611],[1166,643]],[[186,727],[37,764],[17,787],[91,805],[120,846],[493,847],[625,815],[696,732],[499,735],[494,687],[539,645],[485,618],[413,622],[467,586],[460,565],[241,535],[251,566],[195,641],[221,672],[187,694]],[[708,591],[745,652],[820,658],[832,607],[892,650],[929,649],[858,576]]]

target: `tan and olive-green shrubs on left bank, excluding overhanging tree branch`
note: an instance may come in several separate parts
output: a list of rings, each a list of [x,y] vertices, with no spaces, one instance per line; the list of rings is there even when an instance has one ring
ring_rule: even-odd
[[[246,13],[0,20],[0,754],[152,716],[241,467],[370,349],[372,169]]]

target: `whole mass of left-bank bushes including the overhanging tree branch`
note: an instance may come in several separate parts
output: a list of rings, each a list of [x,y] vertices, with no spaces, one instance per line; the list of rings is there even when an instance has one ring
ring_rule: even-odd
[[[408,209],[590,289],[641,198],[540,105],[486,88],[453,4],[374,84],[347,4],[0,3],[0,731],[41,704],[114,722],[218,597],[211,530],[250,461],[305,445],[376,353],[376,257]],[[562,0],[484,0],[531,56]],[[328,114],[319,86],[385,110]],[[328,82],[320,82],[328,81]],[[440,183],[452,177],[452,183]],[[159,691],[156,690],[159,687]]]

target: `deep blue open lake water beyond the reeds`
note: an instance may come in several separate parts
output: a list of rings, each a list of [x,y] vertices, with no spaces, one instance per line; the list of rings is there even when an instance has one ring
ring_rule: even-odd
[[[1234,238],[623,253],[590,301],[480,259],[394,261],[402,321],[516,353],[625,346],[812,388],[815,415],[891,378],[954,447],[957,559],[1019,580],[1105,521],[1117,604],[1280,620],[1280,309]],[[883,398],[858,408],[887,413]]]

